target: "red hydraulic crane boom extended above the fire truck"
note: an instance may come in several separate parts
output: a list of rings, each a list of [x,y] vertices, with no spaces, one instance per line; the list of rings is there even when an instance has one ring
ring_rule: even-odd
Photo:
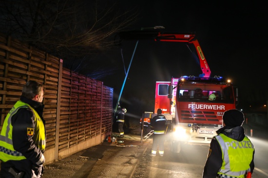
[[[167,33],[167,32],[155,32],[155,31],[127,31],[119,34],[121,39],[128,40],[143,40],[153,39],[154,41],[167,41],[167,42],[186,42],[193,44],[200,62],[200,68],[202,74],[200,77],[210,77],[211,70],[205,58],[205,55],[199,45],[198,40],[195,38],[195,33]]]

